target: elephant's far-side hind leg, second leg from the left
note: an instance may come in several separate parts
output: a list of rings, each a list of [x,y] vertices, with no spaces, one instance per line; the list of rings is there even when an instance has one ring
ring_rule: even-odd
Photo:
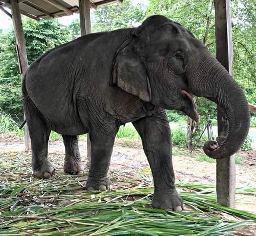
[[[64,171],[68,174],[83,174],[84,166],[81,163],[78,147],[78,136],[62,135],[65,145]]]

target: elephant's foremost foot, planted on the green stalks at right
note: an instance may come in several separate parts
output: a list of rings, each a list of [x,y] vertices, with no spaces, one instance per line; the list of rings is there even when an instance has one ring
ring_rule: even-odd
[[[184,208],[183,200],[176,189],[170,191],[155,190],[152,207],[164,209],[166,211],[182,211]]]

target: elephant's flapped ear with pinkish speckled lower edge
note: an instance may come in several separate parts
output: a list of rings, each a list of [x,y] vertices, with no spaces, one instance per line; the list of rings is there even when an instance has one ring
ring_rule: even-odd
[[[110,85],[117,85],[145,102],[151,101],[150,82],[145,66],[131,43],[117,51],[111,80]]]

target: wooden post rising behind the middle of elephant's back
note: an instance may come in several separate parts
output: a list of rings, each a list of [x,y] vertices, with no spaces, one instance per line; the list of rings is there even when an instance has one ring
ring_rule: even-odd
[[[79,0],[81,36],[91,33],[90,0]],[[87,165],[91,164],[91,140],[87,134]]]

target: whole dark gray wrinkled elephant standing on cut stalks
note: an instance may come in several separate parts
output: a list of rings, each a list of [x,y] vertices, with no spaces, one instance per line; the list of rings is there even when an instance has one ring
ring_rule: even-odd
[[[80,174],[77,135],[91,138],[86,188],[110,188],[107,171],[118,128],[132,122],[142,138],[154,177],[153,207],[180,211],[175,186],[171,132],[164,109],[198,116],[191,94],[222,107],[226,137],[207,142],[205,153],[225,158],[236,152],[249,130],[243,91],[206,47],[181,25],[163,16],[137,28],[82,36],[56,47],[30,65],[22,84],[32,144],[33,174],[48,178],[51,130],[62,134],[64,171]]]

